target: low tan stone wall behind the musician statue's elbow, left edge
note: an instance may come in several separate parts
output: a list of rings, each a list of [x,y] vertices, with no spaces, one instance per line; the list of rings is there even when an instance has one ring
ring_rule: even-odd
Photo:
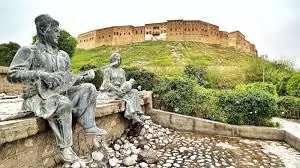
[[[7,81],[8,67],[0,66],[0,93],[7,95],[21,94],[23,91],[22,84],[11,84]]]

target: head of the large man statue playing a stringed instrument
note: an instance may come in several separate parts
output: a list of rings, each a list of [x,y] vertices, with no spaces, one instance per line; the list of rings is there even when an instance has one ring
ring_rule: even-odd
[[[37,37],[42,43],[49,43],[52,46],[58,45],[59,22],[48,14],[42,14],[35,18]]]

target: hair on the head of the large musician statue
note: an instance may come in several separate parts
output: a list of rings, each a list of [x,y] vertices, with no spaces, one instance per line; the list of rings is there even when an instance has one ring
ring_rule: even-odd
[[[50,15],[48,14],[41,14],[37,16],[34,19],[36,30],[37,30],[37,35],[39,38],[41,38],[40,30],[47,30],[51,26],[59,26],[59,22],[55,19],[53,19]]]

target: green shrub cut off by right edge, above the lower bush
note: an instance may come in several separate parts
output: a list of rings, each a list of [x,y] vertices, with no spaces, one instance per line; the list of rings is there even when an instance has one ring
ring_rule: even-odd
[[[300,97],[300,74],[295,73],[287,83],[287,92],[289,96]]]

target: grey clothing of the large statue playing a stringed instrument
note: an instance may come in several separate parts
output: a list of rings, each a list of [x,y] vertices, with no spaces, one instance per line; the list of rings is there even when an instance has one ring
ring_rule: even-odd
[[[47,119],[59,147],[70,147],[73,143],[72,115],[84,129],[96,125],[96,89],[92,84],[80,84],[45,98],[42,96],[45,94],[43,90],[39,90],[40,85],[47,88],[38,75],[40,71],[72,75],[68,54],[58,49],[48,51],[40,42],[21,47],[10,65],[8,80],[26,85],[23,91],[23,110],[32,111],[36,116]]]

